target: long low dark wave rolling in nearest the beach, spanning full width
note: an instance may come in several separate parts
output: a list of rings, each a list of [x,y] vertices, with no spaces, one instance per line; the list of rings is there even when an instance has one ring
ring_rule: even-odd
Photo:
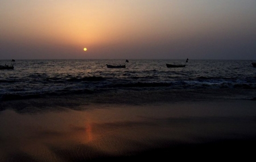
[[[60,97],[63,95],[72,95],[72,94],[94,94],[94,93],[104,93],[115,90],[199,90],[199,89],[256,89],[255,84],[188,84],[187,82],[136,82],[130,84],[112,84],[104,86],[104,88],[87,88],[87,89],[61,89],[55,90],[55,92],[15,92],[15,93],[5,93],[0,94],[0,101],[10,101],[18,99],[33,99],[33,98],[44,98],[47,96]]]

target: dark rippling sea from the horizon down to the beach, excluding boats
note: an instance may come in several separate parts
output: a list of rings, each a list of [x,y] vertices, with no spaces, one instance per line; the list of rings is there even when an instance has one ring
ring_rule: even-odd
[[[0,101],[118,92],[256,90],[251,60],[0,60]],[[110,69],[110,65],[126,68]],[[167,68],[166,64],[186,64]]]

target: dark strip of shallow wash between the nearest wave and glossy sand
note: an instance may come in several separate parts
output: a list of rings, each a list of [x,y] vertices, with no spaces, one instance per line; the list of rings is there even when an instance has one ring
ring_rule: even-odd
[[[24,98],[0,101],[0,111],[31,109],[43,111],[49,107],[67,107],[77,110],[82,105],[151,105],[222,100],[256,100],[255,89],[171,89],[171,90],[109,90],[90,94],[48,95],[41,98]],[[51,109],[52,110],[52,109]],[[48,110],[47,110],[48,111]]]

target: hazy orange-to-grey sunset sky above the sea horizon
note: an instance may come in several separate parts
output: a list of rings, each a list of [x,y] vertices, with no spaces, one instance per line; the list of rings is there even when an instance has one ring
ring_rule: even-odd
[[[2,0],[0,23],[0,60],[256,60],[255,0]]]

